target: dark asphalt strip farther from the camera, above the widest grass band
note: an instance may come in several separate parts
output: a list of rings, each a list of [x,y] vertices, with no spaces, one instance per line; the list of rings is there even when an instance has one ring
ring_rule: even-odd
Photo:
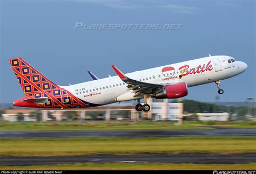
[[[180,137],[180,136],[256,136],[256,129],[214,127],[213,129],[0,131],[0,138],[75,138],[75,137],[130,137],[130,138],[140,137],[141,138],[141,137]]]

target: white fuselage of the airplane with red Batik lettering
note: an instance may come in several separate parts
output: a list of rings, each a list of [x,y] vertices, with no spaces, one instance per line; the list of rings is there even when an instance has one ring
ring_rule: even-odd
[[[130,79],[148,83],[168,84],[180,80],[179,74],[185,67],[182,80],[187,83],[187,87],[192,87],[231,78],[246,70],[247,65],[244,62],[232,62],[231,59],[233,58],[225,55],[210,56],[127,73],[126,76]],[[119,76],[111,76],[109,78],[64,86],[63,88],[86,102],[106,105],[117,102],[116,99],[120,95],[130,94],[130,92],[126,91],[126,86],[127,84]],[[130,98],[123,101],[135,99],[137,98],[133,99],[130,96]]]

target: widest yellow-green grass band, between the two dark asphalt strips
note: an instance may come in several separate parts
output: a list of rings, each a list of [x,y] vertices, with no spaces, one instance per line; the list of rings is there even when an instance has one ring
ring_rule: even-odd
[[[256,152],[256,137],[0,139],[0,156]]]

